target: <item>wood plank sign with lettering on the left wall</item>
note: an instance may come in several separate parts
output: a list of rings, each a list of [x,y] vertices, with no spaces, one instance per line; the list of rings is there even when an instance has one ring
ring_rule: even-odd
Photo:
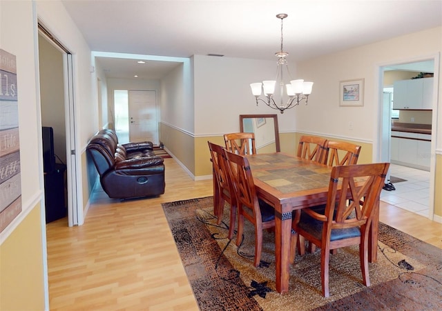
[[[15,55],[0,49],[0,232],[21,212],[19,102]]]

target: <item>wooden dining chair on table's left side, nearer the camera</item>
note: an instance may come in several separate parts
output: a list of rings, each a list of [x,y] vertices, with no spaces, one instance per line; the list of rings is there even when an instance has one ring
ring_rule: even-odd
[[[260,265],[262,254],[262,230],[275,227],[275,210],[256,196],[255,184],[247,157],[224,150],[233,190],[238,204],[238,232],[236,245],[241,245],[244,218],[255,227],[255,257],[253,264]]]

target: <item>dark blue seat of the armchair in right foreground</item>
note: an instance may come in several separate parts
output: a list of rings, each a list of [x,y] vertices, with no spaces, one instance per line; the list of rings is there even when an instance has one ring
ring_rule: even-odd
[[[316,239],[321,239],[323,234],[323,221],[318,221],[305,212],[301,213],[298,228],[309,232]],[[332,229],[330,241],[361,237],[359,228]]]

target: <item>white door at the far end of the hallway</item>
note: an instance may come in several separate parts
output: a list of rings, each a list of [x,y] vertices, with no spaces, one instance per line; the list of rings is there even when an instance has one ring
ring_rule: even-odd
[[[152,141],[159,145],[156,92],[129,90],[128,102],[130,141]]]

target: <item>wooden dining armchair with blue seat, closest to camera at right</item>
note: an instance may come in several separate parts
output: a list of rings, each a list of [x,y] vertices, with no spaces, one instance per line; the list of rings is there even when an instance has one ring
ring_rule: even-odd
[[[298,234],[302,234],[305,239],[320,248],[321,285],[324,297],[329,297],[330,250],[336,248],[359,245],[363,283],[366,286],[370,285],[369,231],[378,210],[379,197],[389,166],[390,163],[334,166],[330,174],[324,213],[311,208],[302,209],[302,213],[300,210],[296,211],[296,217],[292,222],[294,238],[291,239],[291,248],[296,249]],[[360,187],[356,187],[356,184],[360,184]],[[340,195],[341,193],[347,193],[347,196]]]

